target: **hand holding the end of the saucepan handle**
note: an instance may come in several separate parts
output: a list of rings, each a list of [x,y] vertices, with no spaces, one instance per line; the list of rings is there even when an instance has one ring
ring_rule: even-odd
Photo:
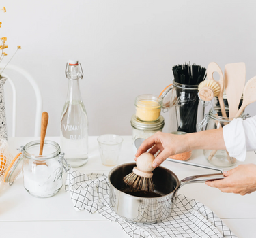
[[[256,165],[238,165],[224,173],[225,179],[208,181],[210,187],[218,188],[221,192],[233,192],[245,195],[256,191]]]

